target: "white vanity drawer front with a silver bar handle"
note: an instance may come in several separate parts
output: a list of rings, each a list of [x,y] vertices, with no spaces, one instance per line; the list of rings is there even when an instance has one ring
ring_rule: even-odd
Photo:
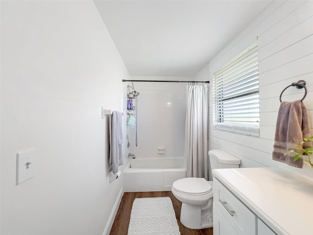
[[[238,235],[256,235],[256,215],[216,178],[213,179],[214,204]]]

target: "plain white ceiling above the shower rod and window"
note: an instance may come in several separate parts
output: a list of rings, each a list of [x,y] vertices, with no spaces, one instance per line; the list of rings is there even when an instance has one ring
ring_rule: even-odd
[[[94,0],[132,76],[193,76],[269,0]]]

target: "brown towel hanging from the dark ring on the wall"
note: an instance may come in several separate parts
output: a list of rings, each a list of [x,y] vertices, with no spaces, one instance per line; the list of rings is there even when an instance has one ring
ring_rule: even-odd
[[[285,157],[284,153],[295,149],[303,141],[303,138],[310,137],[311,125],[303,102],[301,100],[281,102],[276,122],[273,160],[302,168],[303,159],[293,162],[295,154],[289,154]],[[309,143],[304,147],[309,147]]]

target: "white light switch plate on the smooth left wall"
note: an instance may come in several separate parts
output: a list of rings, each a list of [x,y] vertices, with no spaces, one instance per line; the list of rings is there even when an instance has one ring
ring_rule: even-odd
[[[16,154],[16,185],[35,176],[35,149]]]

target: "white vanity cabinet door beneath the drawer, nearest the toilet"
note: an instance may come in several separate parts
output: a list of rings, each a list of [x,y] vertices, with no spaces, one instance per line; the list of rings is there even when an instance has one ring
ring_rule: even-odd
[[[238,235],[214,203],[213,203],[213,218],[214,218],[213,219],[214,235]]]

